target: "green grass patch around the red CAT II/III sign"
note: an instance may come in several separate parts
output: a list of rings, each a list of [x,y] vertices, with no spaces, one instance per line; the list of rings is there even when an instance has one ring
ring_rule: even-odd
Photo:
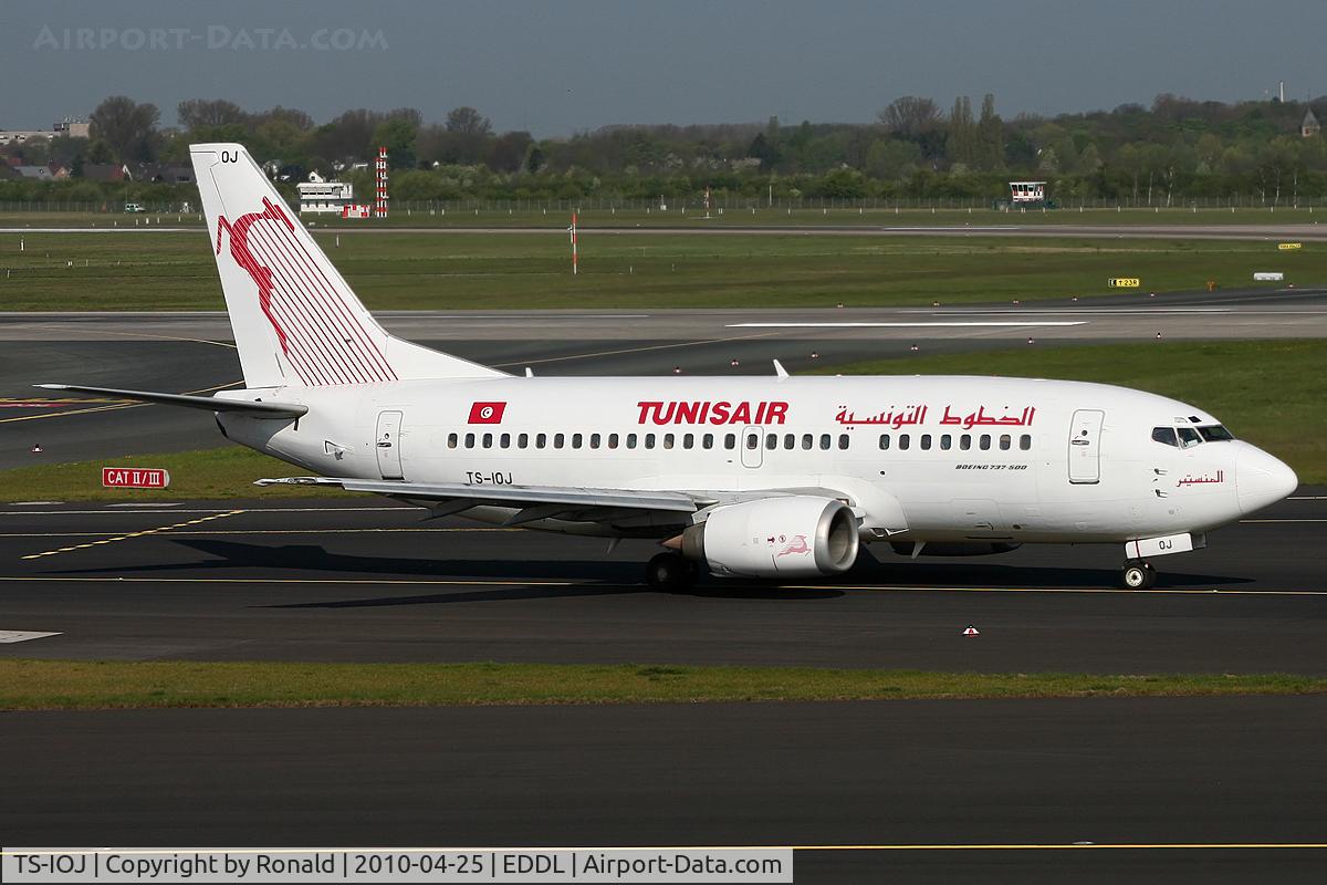
[[[165,467],[170,488],[102,488],[102,467]],[[283,460],[251,448],[228,446],[163,455],[130,455],[105,460],[40,464],[0,471],[4,500],[222,500],[230,498],[325,498],[350,495],[340,488],[311,486],[253,486],[264,476],[301,474]]]

